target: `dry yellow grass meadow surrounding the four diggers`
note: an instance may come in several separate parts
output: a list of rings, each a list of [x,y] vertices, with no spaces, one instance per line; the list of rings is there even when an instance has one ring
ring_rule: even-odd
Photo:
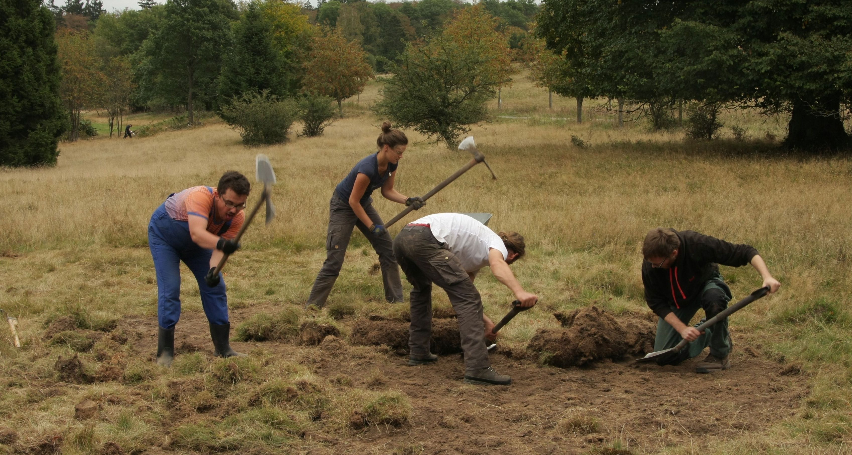
[[[91,441],[118,441],[113,434],[120,434],[125,446],[136,447],[135,452],[153,444],[155,425],[134,420],[130,408],[95,426],[68,417],[73,412],[69,406],[83,396],[120,395],[126,392],[123,386],[73,386],[54,396],[44,392],[43,382],[30,379],[47,380],[57,356],[69,354],[43,342],[42,323],[57,314],[81,312],[93,320],[155,318],[156,284],[147,250],[151,213],[169,193],[215,185],[225,170],[253,176],[256,153],[267,154],[277,173],[273,200],[278,215],[268,226],[252,225],[243,250],[228,262],[229,302],[232,308],[304,302],[325,256],[333,187],[375,147],[380,119],[366,109],[376,99],[378,85],[371,83],[357,103],[349,101],[347,117],[317,138],[294,134],[283,145],[247,148],[233,130],[210,121],[201,128],[144,139],[64,143],[53,168],[0,170],[2,308],[19,318],[25,344],[15,350],[0,343],[0,355],[9,366],[0,374],[0,426],[32,435],[33,441],[51,432],[63,434],[62,450],[69,453],[97,452],[101,449]],[[475,167],[417,214],[490,212],[492,229],[515,230],[527,238],[529,253],[513,269],[541,303],[505,327],[503,343],[524,346],[538,328],[557,325],[550,315],[556,310],[595,303],[616,314],[643,311],[639,250],[649,228],[694,229],[755,245],[783,287],[732,318],[737,343],[759,345],[760,355],[801,366],[808,377],[807,394],[792,403],[789,416],[760,432],[695,441],[691,447],[663,444],[631,450],[852,452],[849,158],[781,153],[763,137],[767,131],[781,137],[785,122],[757,114],[731,112],[725,121],[748,127],[760,139],[692,142],[682,140],[682,131],[651,133],[640,123],[619,130],[600,113],[596,121],[580,125],[551,120],[546,92],[520,79],[503,95],[504,112],[496,114],[531,118],[498,118],[471,132],[498,181],[484,167]],[[553,117],[573,119],[574,101],[555,100]],[[574,147],[572,135],[590,147]],[[406,195],[426,193],[469,159],[413,132],[409,137],[413,141],[396,178]],[[385,219],[402,208],[377,199]],[[410,215],[403,222],[414,219]],[[366,240],[354,234],[330,304],[351,304],[358,315],[383,311],[381,277],[370,273],[375,262]],[[751,268],[723,268],[722,273],[735,298],[760,285]],[[183,310],[199,312],[199,292],[185,269],[183,278]],[[503,314],[509,291],[490,274],[478,279],[477,286],[486,313],[492,318]],[[435,300],[446,303],[446,295],[435,291]],[[0,331],[8,337],[8,331]],[[144,370],[149,367],[141,365],[149,363],[139,360],[138,365]],[[308,374],[288,374],[302,373]],[[146,374],[153,375],[153,383],[163,383],[178,373]],[[356,395],[347,399],[363,398]],[[179,449],[206,452],[199,447]]]

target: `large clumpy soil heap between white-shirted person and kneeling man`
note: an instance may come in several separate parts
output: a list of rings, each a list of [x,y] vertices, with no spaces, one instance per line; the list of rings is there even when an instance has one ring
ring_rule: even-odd
[[[612,314],[595,306],[571,313],[554,314],[566,330],[539,330],[527,350],[553,366],[584,366],[602,359],[620,360],[653,349],[653,323],[629,320],[619,323]]]

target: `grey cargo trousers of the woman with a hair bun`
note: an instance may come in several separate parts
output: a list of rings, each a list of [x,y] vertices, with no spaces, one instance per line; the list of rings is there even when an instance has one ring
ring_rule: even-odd
[[[383,224],[382,218],[372,206],[372,198],[363,205],[364,211],[373,223]],[[393,241],[389,233],[373,234],[360,222],[358,216],[349,206],[347,201],[331,196],[329,203],[328,236],[325,238],[325,262],[322,264],[320,273],[314,280],[314,288],[308,297],[308,304],[314,304],[320,308],[325,306],[325,300],[331,292],[331,287],[343,268],[343,258],[346,256],[346,247],[349,238],[352,237],[352,228],[358,227],[364,237],[370,241],[373,250],[378,255],[378,262],[382,267],[382,280],[384,282],[384,298],[388,302],[402,302],[402,281],[400,280],[400,268],[396,265],[393,251]]]

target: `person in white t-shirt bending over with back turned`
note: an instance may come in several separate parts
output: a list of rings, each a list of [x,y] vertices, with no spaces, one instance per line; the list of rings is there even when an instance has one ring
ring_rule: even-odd
[[[432,283],[450,297],[458,315],[458,331],[464,351],[464,382],[508,385],[511,377],[498,374],[488,361],[483,335],[494,326],[482,313],[482,298],[474,279],[483,267],[506,287],[522,307],[538,301],[524,291],[509,264],[526,252],[519,233],[494,233],[474,218],[461,213],[436,213],[412,222],[394,239],[394,256],[406,273],[412,289],[412,325],[409,329],[408,365],[434,363],[438,356],[429,352],[432,335]],[[483,321],[485,321],[483,323]]]

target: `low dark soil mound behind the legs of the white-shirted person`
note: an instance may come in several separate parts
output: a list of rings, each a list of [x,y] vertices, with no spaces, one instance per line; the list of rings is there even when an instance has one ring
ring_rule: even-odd
[[[385,344],[398,354],[408,353],[409,323],[402,320],[358,320],[349,337],[353,344]],[[432,320],[432,353],[455,354],[462,351],[458,336],[458,320]]]

